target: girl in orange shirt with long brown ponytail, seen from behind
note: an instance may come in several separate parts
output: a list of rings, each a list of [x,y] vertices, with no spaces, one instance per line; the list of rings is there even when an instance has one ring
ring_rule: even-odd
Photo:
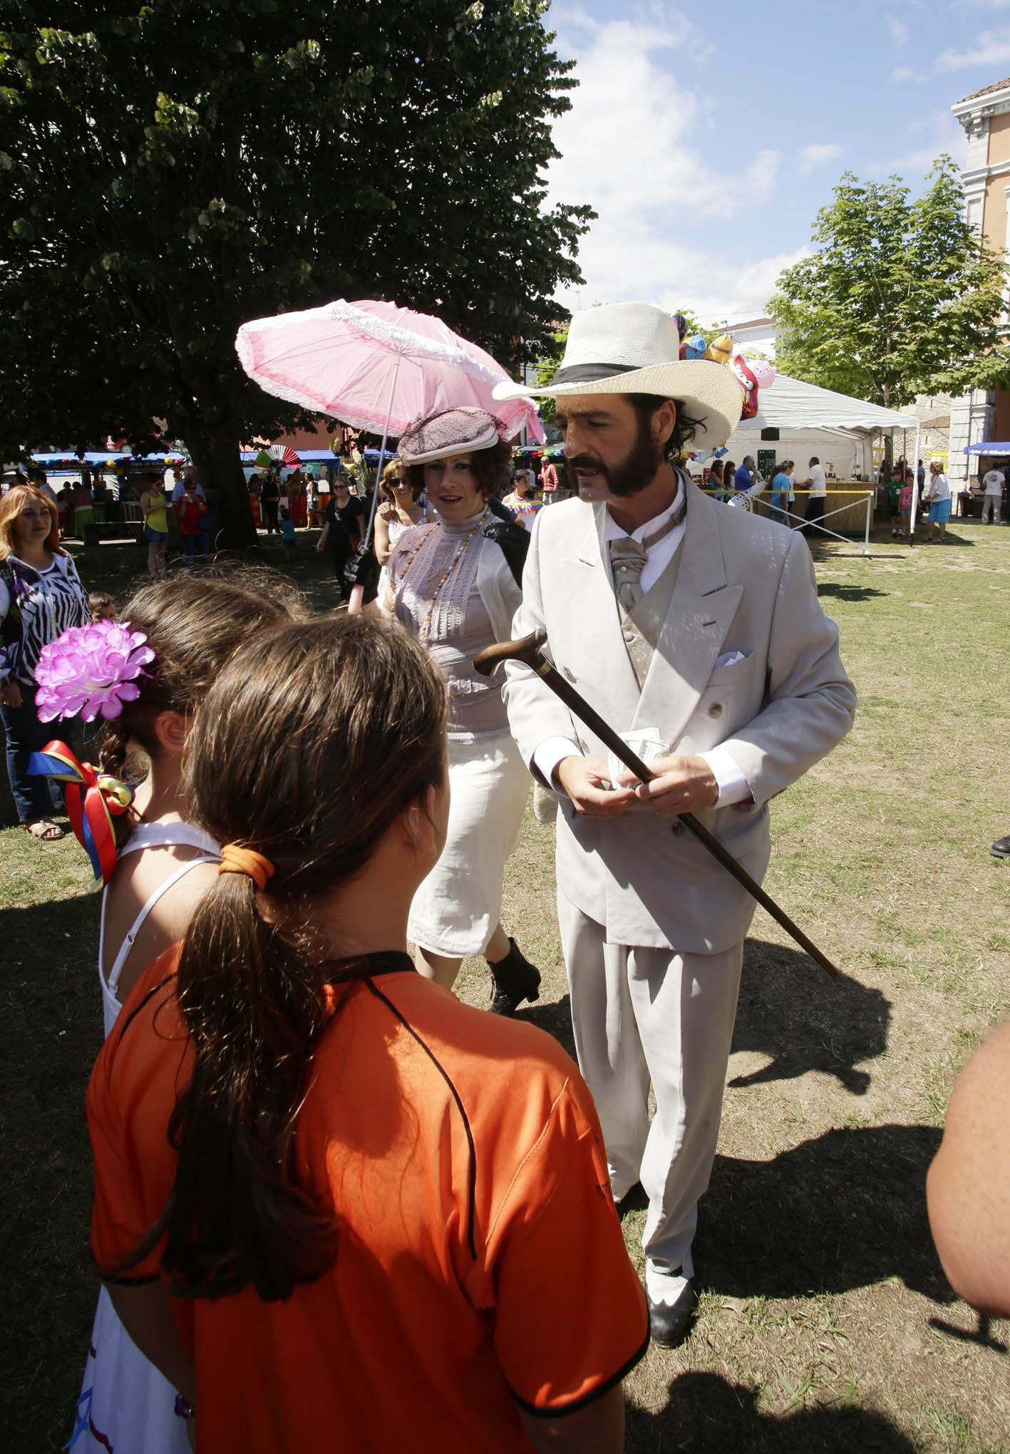
[[[648,1314],[589,1090],[405,952],[445,715],[407,632],[328,616],[243,648],[187,742],[221,874],[87,1114],[94,1258],[199,1454],[623,1447]]]

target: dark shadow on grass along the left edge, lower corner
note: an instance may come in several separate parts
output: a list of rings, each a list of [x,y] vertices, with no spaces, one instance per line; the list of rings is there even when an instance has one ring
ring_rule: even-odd
[[[94,1314],[84,1090],[102,1044],[97,917],[94,893],[0,912],[0,1378],[12,1450],[65,1444]]]

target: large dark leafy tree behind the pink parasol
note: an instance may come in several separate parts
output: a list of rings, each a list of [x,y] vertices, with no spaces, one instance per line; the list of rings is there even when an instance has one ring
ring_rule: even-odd
[[[241,539],[238,441],[299,419],[244,320],[384,297],[535,358],[591,217],[545,209],[575,84],[545,10],[0,0],[0,455],[163,419]]]

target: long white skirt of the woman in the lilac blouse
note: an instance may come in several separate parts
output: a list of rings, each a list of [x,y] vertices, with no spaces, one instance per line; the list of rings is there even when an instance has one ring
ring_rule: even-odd
[[[487,948],[501,917],[504,861],[519,843],[529,781],[512,737],[449,743],[449,835],[414,894],[413,944],[448,958]]]

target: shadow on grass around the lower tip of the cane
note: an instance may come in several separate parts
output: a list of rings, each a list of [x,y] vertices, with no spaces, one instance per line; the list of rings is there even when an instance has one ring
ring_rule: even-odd
[[[891,1002],[879,990],[847,974],[828,980],[799,949],[748,939],[732,1050],[772,1060],[734,1076],[730,1086],[821,1070],[853,1095],[865,1095],[870,1077],[856,1064],[884,1054],[889,1024]]]

